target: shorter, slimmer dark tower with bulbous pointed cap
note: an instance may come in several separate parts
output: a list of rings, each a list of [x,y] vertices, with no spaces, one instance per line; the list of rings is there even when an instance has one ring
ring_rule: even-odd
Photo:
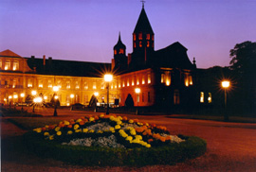
[[[121,42],[120,33],[119,33],[119,41],[114,46],[114,60],[115,60],[115,68],[116,69],[125,69],[127,66],[127,57],[126,46]]]

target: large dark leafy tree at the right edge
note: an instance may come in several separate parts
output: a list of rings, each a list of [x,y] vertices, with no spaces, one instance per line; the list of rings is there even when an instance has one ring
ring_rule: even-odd
[[[238,82],[235,101],[243,112],[256,110],[256,43],[238,43],[230,50],[230,69]]]

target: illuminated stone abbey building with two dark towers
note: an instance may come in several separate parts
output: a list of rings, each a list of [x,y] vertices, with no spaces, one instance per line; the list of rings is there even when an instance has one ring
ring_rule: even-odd
[[[74,103],[88,105],[92,95],[106,102],[106,83],[103,74],[112,72],[110,103],[125,106],[192,106],[199,102],[195,90],[195,61],[189,60],[187,48],[173,43],[155,50],[155,34],[144,7],[133,32],[133,52],[126,55],[121,42],[114,46],[112,63],[53,60],[52,58],[23,58],[10,50],[0,53],[1,95],[4,104],[25,101],[32,91],[49,102],[60,90],[62,106]],[[135,89],[140,93],[136,94]],[[25,94],[21,97],[21,94]],[[96,94],[97,93],[97,94]]]

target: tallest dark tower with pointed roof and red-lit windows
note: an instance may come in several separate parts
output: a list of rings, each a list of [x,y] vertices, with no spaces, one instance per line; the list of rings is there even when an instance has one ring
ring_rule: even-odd
[[[139,65],[147,64],[154,49],[154,31],[143,4],[133,33],[133,61]]]

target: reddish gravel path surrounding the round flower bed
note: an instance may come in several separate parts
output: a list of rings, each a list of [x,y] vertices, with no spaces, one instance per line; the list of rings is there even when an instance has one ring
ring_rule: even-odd
[[[135,118],[135,115],[127,115]],[[196,135],[208,143],[205,155],[175,165],[143,167],[87,167],[42,159],[20,149],[19,137],[26,130],[19,129],[0,117],[2,172],[84,172],[84,171],[256,171],[256,125],[222,123],[204,120],[171,119],[165,116],[136,116],[144,121],[166,126],[172,134]],[[76,118],[60,116],[59,118]]]

